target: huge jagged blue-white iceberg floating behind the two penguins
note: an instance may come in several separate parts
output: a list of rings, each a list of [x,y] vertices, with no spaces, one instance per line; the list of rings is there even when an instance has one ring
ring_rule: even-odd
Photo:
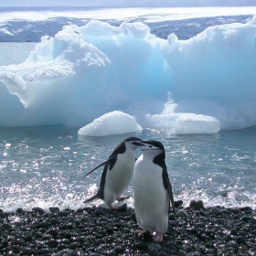
[[[63,27],[42,37],[24,63],[0,67],[0,125],[85,126],[100,135],[110,123],[104,114],[116,110],[166,133],[256,125],[255,37],[256,18],[187,40],[155,37],[138,22]],[[114,113],[117,123],[130,120]]]

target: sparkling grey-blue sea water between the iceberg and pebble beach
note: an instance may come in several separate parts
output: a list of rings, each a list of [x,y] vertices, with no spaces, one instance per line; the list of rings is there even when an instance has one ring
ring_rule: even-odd
[[[175,199],[187,206],[256,205],[256,127],[217,134],[141,133],[105,137],[79,136],[77,128],[36,126],[0,128],[0,208],[82,208],[99,187],[102,168],[113,148],[130,135],[165,145],[166,165]],[[136,151],[136,156],[140,150]],[[133,195],[133,182],[125,192]],[[133,208],[133,198],[127,200]],[[101,205],[96,200],[90,205]]]

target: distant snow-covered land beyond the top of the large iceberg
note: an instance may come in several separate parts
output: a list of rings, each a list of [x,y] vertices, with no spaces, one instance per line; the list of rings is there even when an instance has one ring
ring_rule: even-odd
[[[180,39],[194,37],[209,26],[245,23],[256,15],[256,7],[165,7],[165,8],[86,8],[43,7],[0,9],[0,42],[40,42],[41,37],[55,37],[67,25],[84,26],[101,20],[112,26],[125,22],[143,22],[152,34],[165,38],[176,33]]]

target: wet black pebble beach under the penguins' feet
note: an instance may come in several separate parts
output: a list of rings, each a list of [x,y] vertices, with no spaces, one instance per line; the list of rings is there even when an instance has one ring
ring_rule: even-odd
[[[195,202],[194,202],[195,203]],[[136,238],[132,208],[0,209],[0,255],[253,255],[256,211],[176,202],[162,243]]]

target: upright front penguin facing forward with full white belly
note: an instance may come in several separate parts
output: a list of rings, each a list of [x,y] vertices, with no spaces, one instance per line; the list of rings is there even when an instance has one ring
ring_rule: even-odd
[[[165,148],[158,141],[141,141],[143,151],[135,165],[133,178],[134,211],[138,225],[136,235],[153,232],[161,242],[168,229],[170,201],[175,210],[174,196],[165,165]]]

